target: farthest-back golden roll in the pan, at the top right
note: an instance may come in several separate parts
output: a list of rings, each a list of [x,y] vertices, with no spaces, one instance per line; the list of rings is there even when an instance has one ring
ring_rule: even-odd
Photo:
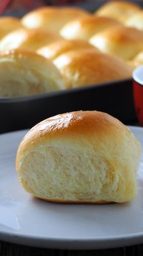
[[[128,17],[138,12],[141,7],[130,1],[109,1],[102,5],[95,14],[100,16],[107,16],[124,22]]]

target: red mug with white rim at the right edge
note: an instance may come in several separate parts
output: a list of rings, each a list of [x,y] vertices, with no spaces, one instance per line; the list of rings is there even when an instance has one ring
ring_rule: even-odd
[[[133,97],[139,124],[143,126],[143,65],[133,71]]]

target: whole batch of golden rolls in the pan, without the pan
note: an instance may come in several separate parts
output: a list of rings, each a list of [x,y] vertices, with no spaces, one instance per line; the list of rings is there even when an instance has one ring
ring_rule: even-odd
[[[109,1],[89,13],[40,7],[0,18],[0,97],[131,78],[143,64],[143,9]]]

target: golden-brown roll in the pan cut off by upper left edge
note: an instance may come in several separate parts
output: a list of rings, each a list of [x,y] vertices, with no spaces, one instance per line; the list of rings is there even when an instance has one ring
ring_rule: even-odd
[[[21,21],[18,18],[11,16],[1,16],[0,17],[0,40],[2,37],[13,31],[14,29],[19,29],[23,27]]]

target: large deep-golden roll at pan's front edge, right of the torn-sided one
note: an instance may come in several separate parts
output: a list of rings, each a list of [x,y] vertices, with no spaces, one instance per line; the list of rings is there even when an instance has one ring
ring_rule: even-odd
[[[57,57],[54,64],[67,88],[131,78],[133,71],[123,60],[94,49],[68,51]]]

